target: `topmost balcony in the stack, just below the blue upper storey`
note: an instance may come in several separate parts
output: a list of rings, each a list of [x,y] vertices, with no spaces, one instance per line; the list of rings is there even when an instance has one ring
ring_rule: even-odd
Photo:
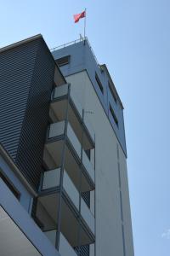
[[[75,131],[79,142],[82,141],[82,127],[84,131],[83,135],[83,148],[85,150],[94,148],[94,130],[89,125],[87,113],[84,114],[82,105],[77,100],[75,91],[69,84],[64,84],[56,87],[53,92],[52,102],[50,104],[50,119],[52,122],[58,122],[65,120],[67,111],[67,101],[70,94],[70,100],[68,105],[68,120],[71,127]],[[83,119],[83,120],[82,120]]]

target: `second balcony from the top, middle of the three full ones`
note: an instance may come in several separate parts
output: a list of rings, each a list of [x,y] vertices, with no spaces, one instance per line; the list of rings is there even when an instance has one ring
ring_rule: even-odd
[[[51,124],[48,128],[48,138],[44,148],[43,161],[47,169],[55,169],[61,166],[63,157],[65,136],[65,121]],[[70,123],[67,125],[65,140],[65,171],[71,177],[77,189],[80,183],[81,143]],[[82,189],[90,191],[94,189],[94,168],[88,160],[87,154],[82,149]]]

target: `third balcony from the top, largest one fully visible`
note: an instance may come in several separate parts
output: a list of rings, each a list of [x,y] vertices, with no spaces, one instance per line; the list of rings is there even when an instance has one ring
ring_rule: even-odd
[[[56,230],[59,209],[60,168],[44,172],[42,192],[37,201],[37,218],[43,225],[43,231]],[[81,218],[78,219],[79,193],[64,170],[63,194],[61,204],[61,232],[72,247],[77,247],[79,229],[81,244],[94,242],[94,216],[81,199]],[[71,232],[74,230],[74,232]],[[64,254],[66,255],[66,254]]]

